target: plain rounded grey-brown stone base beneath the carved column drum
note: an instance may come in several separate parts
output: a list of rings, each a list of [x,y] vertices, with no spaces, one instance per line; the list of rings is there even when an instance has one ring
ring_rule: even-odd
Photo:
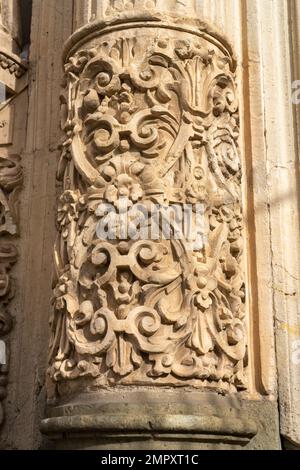
[[[280,449],[276,403],[162,390],[103,392],[48,409],[53,449]]]

